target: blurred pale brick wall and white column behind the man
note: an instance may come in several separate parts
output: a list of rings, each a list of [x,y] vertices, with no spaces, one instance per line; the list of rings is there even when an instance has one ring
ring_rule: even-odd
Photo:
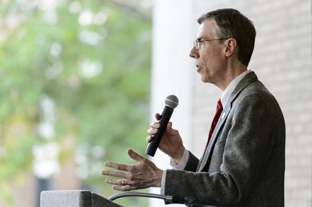
[[[154,1],[151,120],[169,94],[179,98],[171,120],[185,146],[200,157],[222,91],[200,81],[188,57],[197,18],[232,7],[249,16],[257,30],[249,69],[279,102],[286,122],[285,206],[310,207],[312,197],[312,54],[310,0]],[[168,160],[168,162],[164,162]],[[158,167],[171,168],[157,152]],[[158,189],[153,189],[158,192]],[[164,206],[162,201],[151,206]]]

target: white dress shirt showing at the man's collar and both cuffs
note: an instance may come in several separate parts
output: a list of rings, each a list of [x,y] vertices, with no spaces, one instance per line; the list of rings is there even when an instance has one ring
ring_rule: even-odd
[[[236,85],[238,84],[238,82],[240,82],[241,79],[249,72],[251,72],[251,70],[247,70],[247,71],[241,73],[239,76],[234,78],[234,80],[232,80],[232,82],[227,86],[227,88],[224,90],[224,92],[221,95],[222,106],[225,106],[225,104],[227,103],[231,93],[233,92],[233,90],[236,87]],[[173,169],[175,169],[175,170],[183,170],[186,166],[186,163],[188,162],[189,155],[190,154],[189,154],[188,150],[186,148],[184,148],[184,153],[183,153],[183,157],[182,157],[181,162],[179,164],[177,164],[172,159],[170,159],[171,167],[173,167]],[[164,186],[166,183],[166,172],[167,172],[166,170],[163,171],[163,177],[161,179],[161,188],[160,188],[161,194],[164,194],[164,192],[165,192]]]

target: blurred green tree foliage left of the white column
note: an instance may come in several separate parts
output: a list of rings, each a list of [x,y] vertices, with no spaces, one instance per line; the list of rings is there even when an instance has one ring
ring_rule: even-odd
[[[44,2],[53,1],[0,1],[0,200],[12,201],[10,183],[32,171],[33,146],[49,142],[61,166],[80,149],[82,182],[107,197],[118,191],[97,171],[103,162],[135,163],[126,149],[143,155],[147,146],[151,22],[105,1]],[[41,122],[52,136],[38,133]]]

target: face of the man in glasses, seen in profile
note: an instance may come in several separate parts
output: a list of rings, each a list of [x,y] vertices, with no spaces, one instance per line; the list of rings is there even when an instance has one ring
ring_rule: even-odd
[[[205,20],[199,26],[197,40],[211,40],[199,42],[199,48],[192,48],[189,56],[195,59],[197,72],[201,74],[202,82],[216,84],[222,79],[225,69],[225,55],[223,53],[223,44],[219,44],[218,39],[212,34],[214,23],[212,20]]]

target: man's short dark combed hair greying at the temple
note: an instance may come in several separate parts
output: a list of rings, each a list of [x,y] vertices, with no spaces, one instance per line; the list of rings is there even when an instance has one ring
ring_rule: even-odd
[[[237,41],[238,60],[248,66],[255,46],[256,29],[253,22],[236,9],[217,9],[202,14],[197,22],[212,20],[215,27],[212,33],[217,38],[234,38]],[[220,41],[220,40],[219,40]]]

